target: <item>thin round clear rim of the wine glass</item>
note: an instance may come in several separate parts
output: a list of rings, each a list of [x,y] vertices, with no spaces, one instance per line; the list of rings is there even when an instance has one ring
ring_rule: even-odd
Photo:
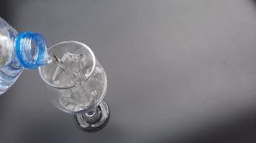
[[[89,53],[91,54],[92,59],[93,59],[93,66],[92,66],[92,69],[91,69],[90,73],[88,74],[88,77],[86,77],[86,79],[84,79],[82,82],[79,82],[79,83],[76,83],[76,84],[74,84],[74,85],[67,86],[67,87],[60,87],[60,86],[56,86],[56,85],[51,84],[50,82],[48,82],[48,81],[42,76],[42,71],[41,71],[42,66],[39,66],[38,71],[39,71],[39,74],[40,74],[41,79],[45,82],[45,84],[47,84],[47,85],[50,86],[50,87],[54,87],[54,88],[57,88],[57,89],[71,89],[71,88],[73,88],[73,87],[78,87],[78,86],[84,84],[84,83],[86,82],[86,80],[87,80],[89,77],[91,77],[91,74],[93,74],[93,71],[94,71],[95,68],[96,68],[96,57],[95,57],[93,51],[91,50],[91,48],[90,48],[89,46],[87,46],[86,44],[83,44],[83,43],[80,42],[80,41],[60,41],[60,42],[58,42],[57,44],[54,44],[54,45],[50,46],[50,48],[48,48],[47,50],[52,49],[54,46],[56,46],[56,45],[58,45],[58,44],[65,44],[65,43],[69,43],[69,42],[74,42],[74,43],[76,43],[76,44],[81,44],[81,45],[83,45],[84,47],[86,47],[86,49],[89,51]],[[52,64],[52,63],[51,63],[51,64]]]

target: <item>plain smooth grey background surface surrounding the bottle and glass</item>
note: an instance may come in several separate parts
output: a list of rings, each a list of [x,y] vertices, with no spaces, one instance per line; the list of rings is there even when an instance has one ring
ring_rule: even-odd
[[[47,101],[37,70],[24,71],[0,97],[0,142],[256,141],[255,1],[7,6],[10,24],[40,32],[49,46],[91,46],[106,69],[111,119],[100,132],[82,132]]]

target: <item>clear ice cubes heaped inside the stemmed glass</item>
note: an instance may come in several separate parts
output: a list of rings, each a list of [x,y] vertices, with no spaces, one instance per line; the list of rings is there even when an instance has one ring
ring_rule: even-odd
[[[83,81],[90,74],[93,66],[93,60],[86,54],[72,54],[65,53],[61,59],[55,57],[57,61],[57,68],[52,75],[53,84],[66,87],[72,86],[78,82]],[[64,109],[69,111],[81,110],[83,107],[88,107],[93,104],[97,96],[99,96],[100,88],[98,86],[99,82],[102,82],[103,77],[101,77],[103,69],[96,66],[95,73],[91,74],[91,78],[81,86],[63,90],[65,93],[59,94],[60,105]],[[99,78],[99,81],[98,79]]]

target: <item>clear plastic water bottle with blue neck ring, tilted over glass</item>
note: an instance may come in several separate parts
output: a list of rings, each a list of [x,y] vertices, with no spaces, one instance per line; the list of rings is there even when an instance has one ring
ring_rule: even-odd
[[[23,69],[35,69],[49,61],[42,35],[18,33],[0,17],[0,95],[12,87]]]

